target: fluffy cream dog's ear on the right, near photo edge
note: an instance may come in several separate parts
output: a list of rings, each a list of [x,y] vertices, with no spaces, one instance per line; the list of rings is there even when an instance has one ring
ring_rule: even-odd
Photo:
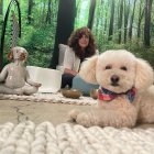
[[[136,77],[135,88],[138,90],[145,90],[154,82],[154,72],[151,65],[141,59],[136,59]]]

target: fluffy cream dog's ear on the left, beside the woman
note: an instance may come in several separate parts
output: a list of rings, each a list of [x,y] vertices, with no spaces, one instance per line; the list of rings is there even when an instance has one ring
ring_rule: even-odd
[[[98,55],[85,61],[80,67],[79,76],[87,82],[97,84],[96,80],[96,64]]]

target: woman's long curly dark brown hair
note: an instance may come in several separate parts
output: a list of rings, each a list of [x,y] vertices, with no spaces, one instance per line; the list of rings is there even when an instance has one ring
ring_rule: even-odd
[[[81,38],[82,35],[89,37],[89,44],[86,47],[85,53],[82,53],[81,47],[78,44],[78,40]],[[77,29],[70,34],[70,37],[68,38],[68,46],[73,48],[76,56],[78,56],[81,61],[96,54],[96,43],[94,35],[91,34],[91,31],[86,26]]]

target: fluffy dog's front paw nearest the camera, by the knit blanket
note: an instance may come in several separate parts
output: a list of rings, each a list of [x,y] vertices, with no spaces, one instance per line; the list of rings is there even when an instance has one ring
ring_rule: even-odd
[[[89,127],[92,125],[91,119],[90,119],[90,117],[86,112],[79,113],[77,116],[76,122],[78,124],[81,124],[81,125],[86,127],[86,128],[89,128]]]

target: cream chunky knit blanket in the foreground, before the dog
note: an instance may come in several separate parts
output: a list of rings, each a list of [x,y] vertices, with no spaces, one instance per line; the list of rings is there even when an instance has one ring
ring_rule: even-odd
[[[153,154],[154,129],[114,129],[31,121],[0,125],[0,154]]]

